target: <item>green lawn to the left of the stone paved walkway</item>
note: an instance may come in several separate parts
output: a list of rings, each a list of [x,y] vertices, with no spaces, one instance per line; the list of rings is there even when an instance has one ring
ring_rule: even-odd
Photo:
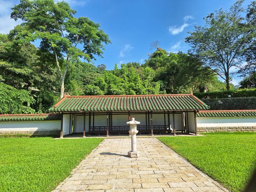
[[[0,138],[0,192],[50,192],[101,138]]]

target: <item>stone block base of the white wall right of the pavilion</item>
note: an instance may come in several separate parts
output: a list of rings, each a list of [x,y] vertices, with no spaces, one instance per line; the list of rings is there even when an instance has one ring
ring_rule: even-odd
[[[253,127],[198,127],[198,133],[207,132],[236,132],[236,131],[253,131],[256,132],[256,126]]]

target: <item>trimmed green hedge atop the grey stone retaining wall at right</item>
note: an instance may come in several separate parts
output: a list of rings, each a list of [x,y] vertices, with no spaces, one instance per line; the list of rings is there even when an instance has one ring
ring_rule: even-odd
[[[216,99],[229,97],[255,97],[256,89],[221,90],[206,93],[193,93],[198,99]]]

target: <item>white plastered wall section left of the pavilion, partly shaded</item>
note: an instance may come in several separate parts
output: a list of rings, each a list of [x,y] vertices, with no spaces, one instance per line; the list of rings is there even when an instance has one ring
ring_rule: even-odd
[[[60,120],[51,121],[5,121],[0,123],[0,132],[8,131],[58,131]]]

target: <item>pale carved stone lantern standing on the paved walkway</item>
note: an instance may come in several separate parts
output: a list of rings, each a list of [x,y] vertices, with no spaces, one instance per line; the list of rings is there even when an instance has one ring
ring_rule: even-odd
[[[131,118],[131,121],[126,122],[129,124],[129,134],[131,134],[131,151],[128,151],[128,156],[131,158],[140,157],[140,151],[137,151],[137,144],[136,144],[136,134],[139,132],[137,130],[137,124],[140,122],[135,121],[134,118]]]

